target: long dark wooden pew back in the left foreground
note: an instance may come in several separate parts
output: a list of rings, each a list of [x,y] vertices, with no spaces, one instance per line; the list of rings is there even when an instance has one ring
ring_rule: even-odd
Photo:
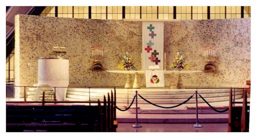
[[[6,131],[98,131],[98,106],[6,106]]]

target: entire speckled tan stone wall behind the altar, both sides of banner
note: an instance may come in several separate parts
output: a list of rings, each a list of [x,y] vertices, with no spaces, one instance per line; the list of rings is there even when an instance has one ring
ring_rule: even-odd
[[[142,22],[17,15],[16,85],[37,83],[37,61],[53,46],[65,46],[69,58],[69,86],[124,86],[125,74],[92,72],[92,46],[104,47],[103,67],[117,70],[119,56],[129,52],[141,69]],[[187,57],[191,70],[203,70],[203,48],[216,47],[219,72],[183,74],[185,87],[244,87],[250,79],[250,19],[188,20],[165,22],[164,51],[167,66],[177,51]],[[17,53],[19,52],[19,53]],[[28,67],[28,63],[30,64]],[[169,69],[169,68],[167,68]],[[170,85],[165,75],[165,86]],[[132,76],[132,79],[134,76]],[[141,86],[146,86],[140,75]]]

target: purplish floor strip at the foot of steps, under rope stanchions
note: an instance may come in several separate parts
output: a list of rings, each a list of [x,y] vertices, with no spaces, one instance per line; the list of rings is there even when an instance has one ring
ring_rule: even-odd
[[[228,123],[198,123],[201,128],[194,128],[194,124],[186,123],[138,123],[141,128],[133,128],[136,123],[118,123],[117,132],[227,132]]]

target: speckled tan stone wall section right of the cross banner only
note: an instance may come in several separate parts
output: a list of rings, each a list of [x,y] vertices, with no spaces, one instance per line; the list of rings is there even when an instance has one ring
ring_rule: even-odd
[[[185,87],[244,87],[250,80],[250,19],[190,20],[165,25],[166,54],[173,58],[175,52],[181,51],[192,70],[202,70],[206,65],[204,47],[216,48],[219,72],[184,75]]]

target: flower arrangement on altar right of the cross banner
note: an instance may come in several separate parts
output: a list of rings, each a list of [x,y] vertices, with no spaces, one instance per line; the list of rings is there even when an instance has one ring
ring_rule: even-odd
[[[188,69],[188,65],[185,63],[186,57],[182,56],[182,53],[177,52],[175,55],[175,59],[173,60],[173,63],[171,64],[171,70],[182,70],[182,69]]]

